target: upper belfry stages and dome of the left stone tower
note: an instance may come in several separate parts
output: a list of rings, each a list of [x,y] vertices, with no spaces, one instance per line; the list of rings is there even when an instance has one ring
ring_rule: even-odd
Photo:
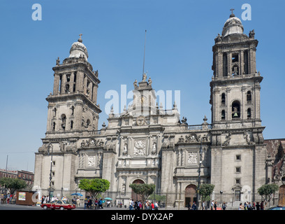
[[[47,97],[47,135],[98,130],[98,71],[87,61],[88,52],[82,34],[73,43],[70,55],[52,69],[53,92]]]

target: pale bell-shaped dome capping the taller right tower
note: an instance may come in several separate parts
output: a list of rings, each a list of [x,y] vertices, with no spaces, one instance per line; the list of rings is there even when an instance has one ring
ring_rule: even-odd
[[[244,28],[240,19],[235,17],[234,14],[231,14],[230,18],[226,20],[221,34],[223,36],[228,36],[230,34],[243,34],[243,31]]]

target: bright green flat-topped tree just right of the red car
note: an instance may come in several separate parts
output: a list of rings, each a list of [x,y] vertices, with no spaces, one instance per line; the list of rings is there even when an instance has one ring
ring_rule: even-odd
[[[110,188],[110,182],[105,179],[82,179],[78,187],[89,192],[95,200],[98,194],[104,193]]]

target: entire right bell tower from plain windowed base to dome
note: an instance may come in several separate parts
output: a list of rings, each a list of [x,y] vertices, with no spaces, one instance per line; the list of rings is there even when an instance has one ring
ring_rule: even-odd
[[[242,22],[232,12],[214,42],[211,183],[216,193],[256,193],[266,183],[265,127],[260,111],[263,77],[256,71],[258,41],[254,30],[244,34]]]

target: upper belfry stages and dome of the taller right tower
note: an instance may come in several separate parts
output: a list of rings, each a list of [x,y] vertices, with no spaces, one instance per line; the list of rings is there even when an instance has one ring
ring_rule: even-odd
[[[256,71],[254,30],[249,36],[239,18],[232,13],[222,35],[214,39],[210,104],[212,125],[216,128],[258,127],[260,116],[260,83]]]

